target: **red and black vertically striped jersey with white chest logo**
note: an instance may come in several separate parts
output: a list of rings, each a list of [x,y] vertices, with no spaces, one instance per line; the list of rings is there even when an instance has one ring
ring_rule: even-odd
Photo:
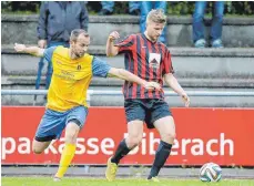
[[[119,53],[124,53],[125,70],[146,81],[163,85],[163,75],[174,73],[171,54],[162,42],[151,42],[144,33],[131,34],[118,42]],[[163,90],[145,90],[143,86],[125,81],[124,99],[164,99]]]

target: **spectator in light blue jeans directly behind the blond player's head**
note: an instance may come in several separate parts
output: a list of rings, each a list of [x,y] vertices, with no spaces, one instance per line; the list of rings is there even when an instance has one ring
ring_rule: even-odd
[[[166,12],[166,1],[141,1],[140,4],[140,11],[141,11],[141,18],[140,18],[140,30],[141,33],[145,31],[145,22],[146,22],[146,16],[152,9],[162,9],[164,12]],[[162,43],[166,45],[166,27],[163,29],[163,32],[159,39]]]

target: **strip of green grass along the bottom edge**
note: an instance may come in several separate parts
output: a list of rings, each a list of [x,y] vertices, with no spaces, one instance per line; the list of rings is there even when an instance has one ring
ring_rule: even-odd
[[[64,178],[54,183],[50,177],[2,177],[2,186],[254,186],[254,180],[224,179],[220,183],[202,183],[197,179],[161,179],[151,183],[142,178],[123,178],[109,183],[103,178]]]

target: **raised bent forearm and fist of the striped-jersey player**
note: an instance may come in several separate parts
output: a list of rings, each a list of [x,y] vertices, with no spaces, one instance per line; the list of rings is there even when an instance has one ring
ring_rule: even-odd
[[[119,53],[119,48],[114,46],[114,41],[119,38],[120,38],[119,32],[113,31],[110,33],[106,41],[106,48],[105,48],[106,56],[114,56]]]

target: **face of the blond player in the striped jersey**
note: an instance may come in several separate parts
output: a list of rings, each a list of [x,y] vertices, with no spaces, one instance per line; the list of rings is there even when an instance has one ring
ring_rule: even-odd
[[[146,23],[148,35],[152,41],[158,41],[159,37],[162,34],[162,30],[164,29],[165,23],[156,23],[150,21]]]

